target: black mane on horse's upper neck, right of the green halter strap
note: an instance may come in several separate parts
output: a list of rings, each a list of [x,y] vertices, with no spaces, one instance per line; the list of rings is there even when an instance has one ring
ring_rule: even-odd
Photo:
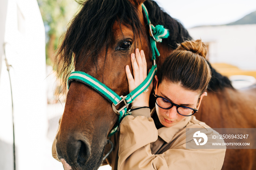
[[[146,0],[144,5],[147,7],[151,23],[154,26],[163,25],[169,30],[170,36],[168,38],[164,38],[163,43],[168,44],[173,49],[176,49],[177,43],[180,44],[185,40],[192,40],[184,26],[160,8],[155,1]]]

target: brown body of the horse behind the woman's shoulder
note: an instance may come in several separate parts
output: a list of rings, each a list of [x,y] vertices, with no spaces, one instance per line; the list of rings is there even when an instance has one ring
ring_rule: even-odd
[[[256,128],[256,85],[240,90],[225,87],[208,91],[195,116],[212,128]],[[255,149],[227,149],[222,169],[256,169],[255,152]]]

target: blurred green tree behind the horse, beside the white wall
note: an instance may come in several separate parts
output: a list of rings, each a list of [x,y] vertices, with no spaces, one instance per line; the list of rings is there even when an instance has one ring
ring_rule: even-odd
[[[45,26],[46,64],[51,65],[60,36],[79,9],[75,0],[37,0]]]

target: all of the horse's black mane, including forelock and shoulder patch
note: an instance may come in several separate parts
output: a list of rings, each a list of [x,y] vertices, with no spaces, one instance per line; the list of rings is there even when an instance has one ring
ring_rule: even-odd
[[[120,21],[120,25],[123,23],[132,26],[135,36],[138,36],[139,32],[145,36],[148,34],[140,23],[137,9],[129,0],[86,0],[82,4],[79,13],[71,21],[63,35],[57,52],[56,69],[58,78],[62,80],[63,84],[67,82],[67,78],[79,58],[82,58],[79,60],[79,62],[83,62],[82,65],[85,65],[89,58],[97,65],[98,54],[104,47],[107,51],[108,45],[113,40],[112,27],[116,20]],[[144,4],[148,9],[151,23],[155,26],[163,25],[170,31],[170,36],[163,39],[163,43],[176,49],[177,43],[192,39],[182,24],[170,17],[155,1],[146,0]],[[211,70],[213,78],[209,89],[232,87],[227,77],[223,77],[212,67]]]

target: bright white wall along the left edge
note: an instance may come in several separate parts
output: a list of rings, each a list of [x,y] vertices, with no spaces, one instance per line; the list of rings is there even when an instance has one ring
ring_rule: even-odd
[[[5,30],[3,9],[7,9]],[[55,161],[49,148],[52,141],[46,140],[45,30],[37,1],[1,0],[0,14],[0,49],[7,42],[6,56],[12,65],[16,170],[54,169],[49,161]],[[12,170],[11,91],[4,58],[0,59],[0,169]]]

